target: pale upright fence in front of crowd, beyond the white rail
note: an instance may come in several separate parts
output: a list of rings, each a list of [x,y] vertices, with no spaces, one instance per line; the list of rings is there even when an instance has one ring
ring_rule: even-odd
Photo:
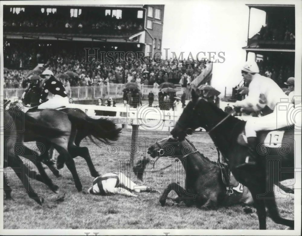
[[[180,85],[176,86],[176,95],[179,96],[182,94],[183,88]],[[152,85],[139,85],[140,91],[143,95],[148,95],[150,91],[156,95],[159,92],[158,86]],[[76,100],[91,100],[101,97],[113,97],[119,98],[123,97],[124,84],[104,84],[100,86],[77,86],[71,87],[68,91],[68,97],[72,97]],[[21,99],[24,88],[5,88],[3,95],[12,98],[18,97]]]

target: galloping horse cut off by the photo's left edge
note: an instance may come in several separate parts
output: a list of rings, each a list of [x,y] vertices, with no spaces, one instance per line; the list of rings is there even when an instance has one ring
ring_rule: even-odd
[[[55,139],[63,136],[64,131],[55,129],[52,127],[44,126],[37,123],[37,120],[23,113],[21,110],[15,110],[10,108],[3,112],[3,124],[4,124],[4,165],[3,167],[11,167],[22,181],[23,187],[28,196],[34,199],[37,203],[42,205],[44,199],[41,195],[37,194],[32,189],[31,184],[27,177],[35,178],[38,181],[46,183],[54,192],[57,189],[56,185],[48,182],[44,179],[44,169],[40,162],[36,161],[35,164],[40,171],[40,174],[36,174],[35,171],[31,171],[26,164],[21,160],[18,155],[21,150],[24,150],[23,141],[24,134],[30,136],[32,140],[48,140]],[[12,199],[11,187],[8,185],[6,174],[4,173],[4,191],[6,199]]]

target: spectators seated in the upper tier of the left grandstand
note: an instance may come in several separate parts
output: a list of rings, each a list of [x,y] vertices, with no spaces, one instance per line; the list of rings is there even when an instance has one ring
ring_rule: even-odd
[[[37,11],[34,14],[26,14],[21,10],[18,14],[15,11],[9,12],[4,15],[3,27],[16,27],[20,30],[20,27],[35,27],[39,30],[47,30],[49,28],[55,29],[74,29],[75,32],[81,33],[85,29],[100,29],[100,30],[142,30],[143,22],[140,19],[137,21],[124,20],[116,16],[107,16],[99,19],[91,17],[88,14],[80,14],[78,17],[71,17],[70,15],[61,15],[54,12],[42,13]],[[4,28],[5,30],[5,28]],[[70,31],[70,30],[69,30]],[[66,31],[68,33],[68,31]]]

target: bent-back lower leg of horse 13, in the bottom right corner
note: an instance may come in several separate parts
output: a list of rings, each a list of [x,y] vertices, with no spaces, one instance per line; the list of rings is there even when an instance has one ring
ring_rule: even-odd
[[[293,220],[288,220],[288,219],[284,219],[284,218],[280,217],[274,193],[273,192],[267,192],[266,197],[267,198],[264,201],[265,201],[265,205],[268,208],[268,213],[269,213],[269,216],[271,217],[271,219],[276,224],[286,225],[286,226],[289,226],[291,228],[294,228],[294,221]]]

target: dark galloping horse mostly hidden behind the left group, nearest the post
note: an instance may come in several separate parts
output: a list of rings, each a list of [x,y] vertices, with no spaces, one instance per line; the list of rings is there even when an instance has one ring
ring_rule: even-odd
[[[91,122],[95,124],[96,127],[98,126],[102,127],[106,131],[106,132],[91,132],[91,129],[87,129],[83,123],[79,123],[76,126],[76,137],[74,141],[75,146],[72,146],[73,149],[70,151],[70,155],[72,156],[72,158],[80,156],[85,159],[92,177],[100,176],[98,171],[95,170],[88,148],[80,147],[80,143],[86,137],[88,137],[92,142],[95,143],[95,141],[92,139],[92,136],[98,139],[99,141],[105,143],[107,143],[107,140],[116,141],[119,137],[119,133],[121,129],[117,128],[116,125],[111,120],[107,120],[104,118],[93,119],[87,116],[85,112],[83,112],[78,108],[64,108],[61,109],[60,111],[75,116],[79,119],[84,119],[88,122]],[[53,169],[49,162],[45,162],[45,163],[50,167],[53,174],[57,176],[58,175],[57,170]],[[63,167],[63,164],[64,164],[64,159],[62,158],[62,156],[59,156],[57,160],[57,167],[60,169]]]

